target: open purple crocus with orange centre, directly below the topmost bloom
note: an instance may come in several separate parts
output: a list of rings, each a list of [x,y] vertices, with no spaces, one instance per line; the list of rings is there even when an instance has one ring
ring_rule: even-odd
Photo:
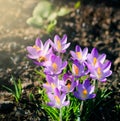
[[[45,73],[48,75],[58,75],[67,66],[67,61],[62,62],[60,56],[52,54],[51,60],[48,66],[45,68]]]

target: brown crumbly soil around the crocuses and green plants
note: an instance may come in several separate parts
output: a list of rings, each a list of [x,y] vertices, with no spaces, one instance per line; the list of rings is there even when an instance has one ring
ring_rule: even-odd
[[[26,47],[33,45],[35,39],[53,38],[55,34],[67,34],[74,49],[76,44],[91,50],[96,47],[106,53],[112,61],[113,74],[108,78],[109,91],[113,93],[105,100],[106,106],[95,109],[88,121],[119,121],[120,107],[120,2],[119,0],[83,1],[80,8],[74,9],[77,0],[69,2],[51,0],[56,5],[66,5],[72,12],[62,18],[51,34],[26,24],[38,0],[0,1],[0,119],[1,121],[47,121],[46,114],[36,104],[40,103],[37,87],[41,84],[35,73],[37,68],[27,57]],[[2,85],[12,88],[11,76],[22,80],[23,95],[19,104],[6,92]],[[36,87],[36,88],[35,88]],[[31,102],[29,93],[35,94]],[[42,100],[42,99],[41,99]],[[27,106],[25,106],[26,104]],[[36,112],[40,110],[40,112]]]

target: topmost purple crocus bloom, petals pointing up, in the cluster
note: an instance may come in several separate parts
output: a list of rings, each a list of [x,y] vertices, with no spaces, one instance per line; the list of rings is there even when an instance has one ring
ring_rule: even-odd
[[[51,41],[51,46],[58,53],[65,53],[66,49],[70,46],[70,43],[67,43],[66,35],[63,35],[62,39],[58,35],[55,35],[54,43]]]

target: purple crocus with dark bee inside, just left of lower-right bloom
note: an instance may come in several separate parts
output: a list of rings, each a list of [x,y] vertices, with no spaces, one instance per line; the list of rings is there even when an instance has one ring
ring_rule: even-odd
[[[65,84],[62,86],[62,90],[66,93],[72,92],[78,84],[78,81],[75,81],[75,78],[72,74],[64,74],[63,81]]]

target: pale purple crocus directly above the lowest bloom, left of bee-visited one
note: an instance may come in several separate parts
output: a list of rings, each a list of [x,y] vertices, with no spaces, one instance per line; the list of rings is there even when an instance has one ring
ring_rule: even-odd
[[[46,89],[46,92],[54,93],[54,90],[58,88],[61,90],[61,87],[64,86],[64,81],[59,80],[58,76],[46,76],[47,83],[43,84],[43,87]]]

